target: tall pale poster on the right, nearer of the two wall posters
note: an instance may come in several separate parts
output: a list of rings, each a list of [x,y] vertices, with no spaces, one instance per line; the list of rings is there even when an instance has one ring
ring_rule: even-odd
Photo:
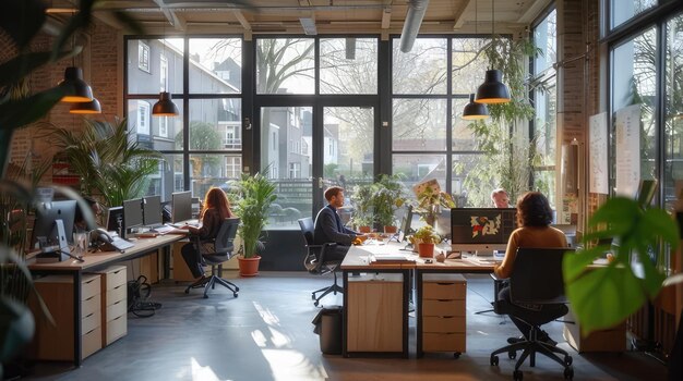
[[[616,110],[614,145],[616,194],[633,197],[640,181],[640,105]]]

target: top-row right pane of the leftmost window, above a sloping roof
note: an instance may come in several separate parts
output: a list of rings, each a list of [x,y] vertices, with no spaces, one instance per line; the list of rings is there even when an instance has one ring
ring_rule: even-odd
[[[190,93],[239,94],[242,90],[240,38],[190,39]]]

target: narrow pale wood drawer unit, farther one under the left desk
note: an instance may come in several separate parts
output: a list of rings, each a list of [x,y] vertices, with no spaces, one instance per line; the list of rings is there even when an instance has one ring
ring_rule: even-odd
[[[128,332],[128,269],[112,266],[101,274],[101,342],[109,345]]]

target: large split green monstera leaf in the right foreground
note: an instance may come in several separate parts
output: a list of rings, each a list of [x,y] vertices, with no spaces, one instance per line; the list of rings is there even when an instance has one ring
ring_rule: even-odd
[[[650,253],[662,249],[662,242],[673,250],[680,239],[676,222],[664,210],[623,197],[604,202],[588,228],[585,247],[604,238],[614,238],[619,245],[596,245],[564,257],[566,295],[584,332],[613,327],[656,297],[666,275]],[[608,266],[587,268],[614,248]],[[642,273],[634,272],[633,260],[640,265]]]

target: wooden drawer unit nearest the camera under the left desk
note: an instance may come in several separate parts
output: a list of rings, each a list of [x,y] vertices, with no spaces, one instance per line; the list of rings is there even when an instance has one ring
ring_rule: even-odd
[[[49,275],[35,281],[56,325],[44,317],[37,300],[29,305],[36,319],[32,355],[41,360],[73,360],[73,278]],[[101,298],[99,274],[81,278],[81,357],[86,358],[101,348]]]

